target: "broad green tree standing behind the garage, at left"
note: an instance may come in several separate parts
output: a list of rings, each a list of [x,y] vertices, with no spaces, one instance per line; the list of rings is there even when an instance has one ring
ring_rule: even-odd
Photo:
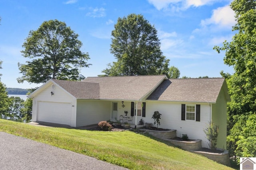
[[[32,60],[18,63],[19,83],[44,83],[50,78],[82,80],[80,68],[88,67],[88,53],[80,51],[82,42],[66,23],[58,20],[44,21],[36,31],[30,31],[22,45],[22,55]]]

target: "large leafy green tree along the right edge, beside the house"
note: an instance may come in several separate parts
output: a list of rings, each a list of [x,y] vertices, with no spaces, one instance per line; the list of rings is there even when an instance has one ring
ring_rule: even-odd
[[[222,72],[232,99],[228,104],[228,149],[238,156],[255,157],[255,150],[251,150],[250,154],[244,150],[246,146],[256,143],[251,138],[254,133],[248,132],[250,129],[246,129],[244,123],[252,125],[256,113],[256,1],[234,0],[230,7],[235,12],[237,23],[233,31],[236,34],[231,42],[225,41],[222,47],[214,47],[218,53],[226,51],[224,63],[233,66],[235,71],[232,75]]]

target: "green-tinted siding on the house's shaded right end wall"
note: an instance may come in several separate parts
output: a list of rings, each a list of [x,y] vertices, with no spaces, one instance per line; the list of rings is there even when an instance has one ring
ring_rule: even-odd
[[[212,104],[212,122],[219,126],[217,148],[226,149],[227,141],[227,104],[223,88],[217,98],[216,104]]]

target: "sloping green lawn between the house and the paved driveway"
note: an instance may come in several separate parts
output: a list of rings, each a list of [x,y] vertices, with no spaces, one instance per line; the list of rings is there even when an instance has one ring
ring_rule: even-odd
[[[230,170],[203,156],[131,131],[36,127],[0,119],[0,131],[72,150],[134,170]]]

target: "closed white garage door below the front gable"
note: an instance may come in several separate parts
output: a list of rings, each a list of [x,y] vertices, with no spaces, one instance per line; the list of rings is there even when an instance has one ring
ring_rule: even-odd
[[[70,114],[70,103],[38,103],[38,121],[70,125]]]

